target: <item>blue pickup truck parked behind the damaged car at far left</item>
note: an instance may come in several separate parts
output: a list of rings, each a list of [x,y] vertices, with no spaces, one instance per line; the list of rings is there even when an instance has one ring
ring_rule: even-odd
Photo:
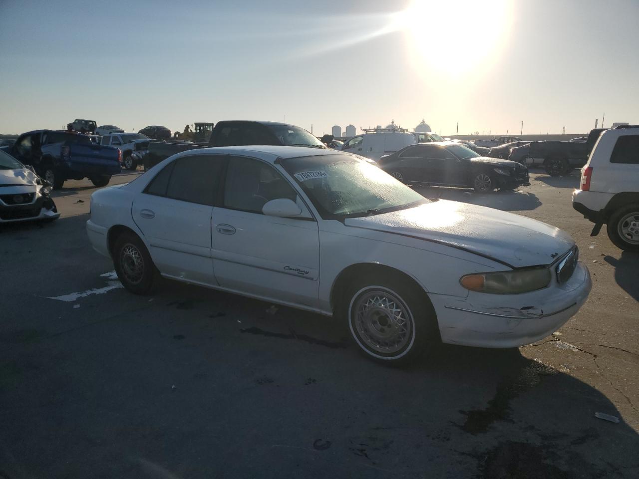
[[[35,130],[22,133],[15,144],[3,149],[42,178],[62,188],[67,179],[89,178],[95,186],[106,186],[111,176],[122,171],[122,153],[102,146],[80,133]]]

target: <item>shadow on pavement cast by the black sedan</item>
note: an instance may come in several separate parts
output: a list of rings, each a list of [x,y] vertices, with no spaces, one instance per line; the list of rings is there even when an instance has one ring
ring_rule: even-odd
[[[414,186],[416,192],[428,199],[447,199],[462,201],[502,211],[523,211],[541,206],[541,201],[526,190],[497,191],[490,194],[478,194],[473,190],[447,188],[444,186]]]

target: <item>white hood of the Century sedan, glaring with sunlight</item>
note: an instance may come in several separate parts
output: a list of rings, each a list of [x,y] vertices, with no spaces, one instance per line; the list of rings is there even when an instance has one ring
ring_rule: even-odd
[[[554,226],[499,209],[447,200],[348,218],[344,224],[434,241],[513,268],[550,264],[574,245],[573,238]]]

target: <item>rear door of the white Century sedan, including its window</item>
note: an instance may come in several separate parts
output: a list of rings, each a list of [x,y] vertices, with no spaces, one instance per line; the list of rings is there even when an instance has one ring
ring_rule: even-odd
[[[160,273],[217,285],[211,258],[211,214],[224,157],[182,156],[135,197],[132,215]]]

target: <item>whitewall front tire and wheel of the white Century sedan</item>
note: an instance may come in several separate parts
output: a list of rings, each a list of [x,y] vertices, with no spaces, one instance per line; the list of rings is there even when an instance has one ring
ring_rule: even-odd
[[[388,365],[405,365],[440,344],[435,311],[426,293],[401,275],[355,280],[343,301],[348,328],[359,351]],[[403,317],[397,322],[390,318]],[[385,351],[387,350],[387,351]]]

